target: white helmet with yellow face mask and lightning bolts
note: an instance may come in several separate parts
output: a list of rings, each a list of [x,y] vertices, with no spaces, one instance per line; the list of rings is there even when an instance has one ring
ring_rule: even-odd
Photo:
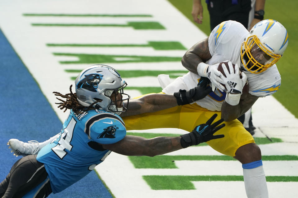
[[[241,62],[251,73],[274,65],[288,45],[288,32],[279,22],[266,19],[255,24],[241,46]]]

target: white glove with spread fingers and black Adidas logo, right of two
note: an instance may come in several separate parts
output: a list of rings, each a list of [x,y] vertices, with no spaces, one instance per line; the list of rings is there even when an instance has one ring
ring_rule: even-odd
[[[224,75],[221,75],[220,76],[221,80],[224,82],[223,84],[226,86],[227,92],[242,94],[242,89],[246,83],[247,76],[242,71],[241,73],[242,78],[240,78],[240,70],[237,64],[235,65],[235,73],[234,73],[234,68],[231,61],[228,62],[228,66],[231,74],[229,73],[225,64],[222,64],[224,73],[227,77],[224,77]]]

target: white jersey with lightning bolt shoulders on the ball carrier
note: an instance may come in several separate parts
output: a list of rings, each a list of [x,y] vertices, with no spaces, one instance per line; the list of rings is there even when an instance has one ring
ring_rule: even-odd
[[[231,61],[241,65],[241,44],[248,35],[246,28],[236,21],[224,21],[216,26],[210,33],[208,44],[212,58],[206,61],[213,65],[219,62]],[[244,71],[247,75],[249,93],[258,97],[265,97],[275,93],[281,84],[281,77],[276,65],[269,67],[260,74]],[[191,89],[197,86],[201,76],[188,72],[183,77],[178,77],[162,91],[164,93],[178,92],[179,89]],[[216,89],[205,98],[196,103],[211,111],[220,111],[226,97],[226,92]]]

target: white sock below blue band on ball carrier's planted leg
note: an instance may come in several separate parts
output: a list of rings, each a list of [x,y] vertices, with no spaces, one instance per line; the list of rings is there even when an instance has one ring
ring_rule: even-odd
[[[243,168],[246,196],[248,198],[268,198],[268,189],[263,166]]]

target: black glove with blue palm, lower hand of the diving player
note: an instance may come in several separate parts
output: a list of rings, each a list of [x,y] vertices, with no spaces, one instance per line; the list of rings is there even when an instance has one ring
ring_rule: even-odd
[[[180,140],[181,146],[187,148],[202,142],[224,137],[224,135],[213,135],[216,131],[225,126],[225,124],[219,125],[224,119],[220,119],[211,125],[216,117],[217,114],[214,114],[205,124],[200,124],[196,126],[192,132],[182,135]],[[217,125],[219,126],[216,127]]]

